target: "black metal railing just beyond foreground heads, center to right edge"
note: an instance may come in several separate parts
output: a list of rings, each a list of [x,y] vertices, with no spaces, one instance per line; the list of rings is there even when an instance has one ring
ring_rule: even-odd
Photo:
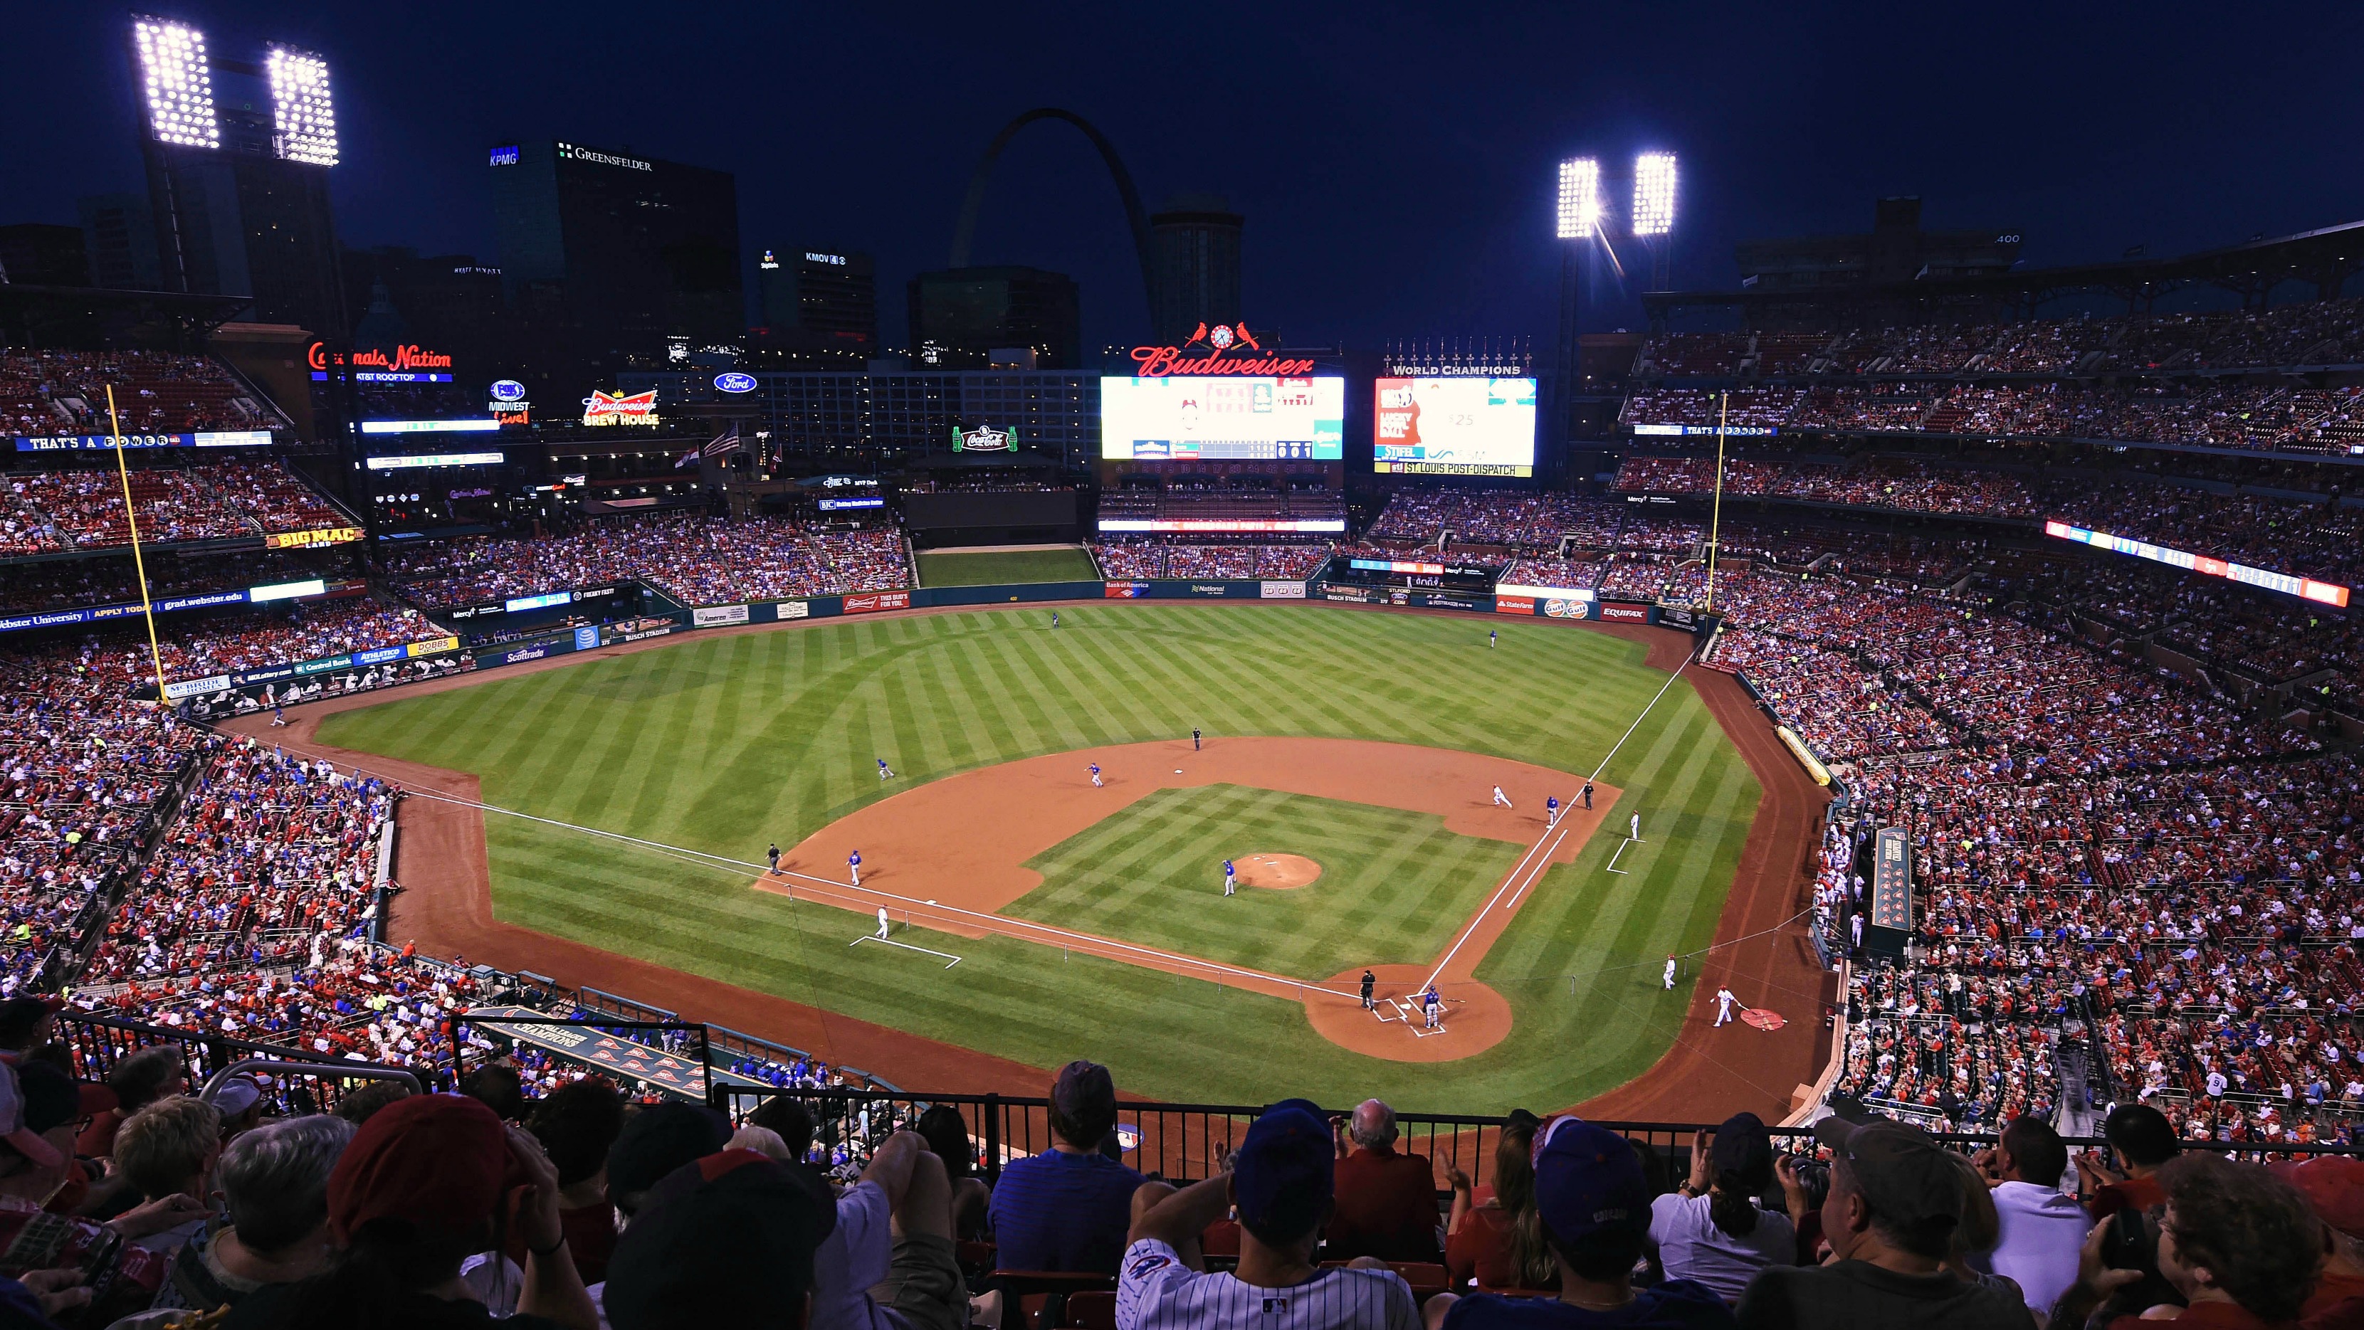
[[[754,1113],[766,1098],[792,1096],[804,1101],[813,1115],[816,1141],[825,1148],[853,1143],[860,1124],[868,1122],[870,1139],[882,1139],[894,1122],[908,1122],[934,1106],[957,1108],[969,1124],[969,1139],[983,1155],[986,1181],[998,1181],[1009,1160],[1047,1150],[1050,1101],[1005,1094],[917,1094],[917,1091],[860,1091],[860,1089],[773,1089],[773,1087],[714,1087],[714,1106],[733,1120]],[[868,1110],[868,1117],[865,1113]],[[1239,1103],[1118,1103],[1118,1148],[1135,1169],[1163,1174],[1165,1179],[1208,1176],[1220,1167],[1220,1158],[1239,1146],[1262,1108]],[[1345,1117],[1350,1108],[1324,1110]],[[1494,1146],[1501,1141],[1506,1117],[1470,1113],[1397,1113],[1395,1148],[1411,1155],[1428,1155],[1442,1169],[1463,1169],[1475,1181],[1494,1174]],[[1600,1120],[1629,1141],[1645,1146],[1667,1162],[1669,1169],[1690,1167],[1690,1148],[1700,1132],[1714,1132],[1714,1122],[1622,1122]],[[1813,1127],[1768,1127],[1782,1148],[1813,1148]],[[1931,1132],[1957,1150],[1983,1150],[1995,1143],[1993,1132]],[[1128,1143],[1130,1139],[1130,1143]],[[2071,1148],[2106,1148],[2095,1136],[2068,1136]],[[2305,1158],[2305,1155],[2359,1155],[2364,1146],[2300,1143],[2300,1141],[2187,1141],[2187,1150],[2215,1150],[2248,1160]],[[1674,1172],[1669,1176],[1681,1176]]]

